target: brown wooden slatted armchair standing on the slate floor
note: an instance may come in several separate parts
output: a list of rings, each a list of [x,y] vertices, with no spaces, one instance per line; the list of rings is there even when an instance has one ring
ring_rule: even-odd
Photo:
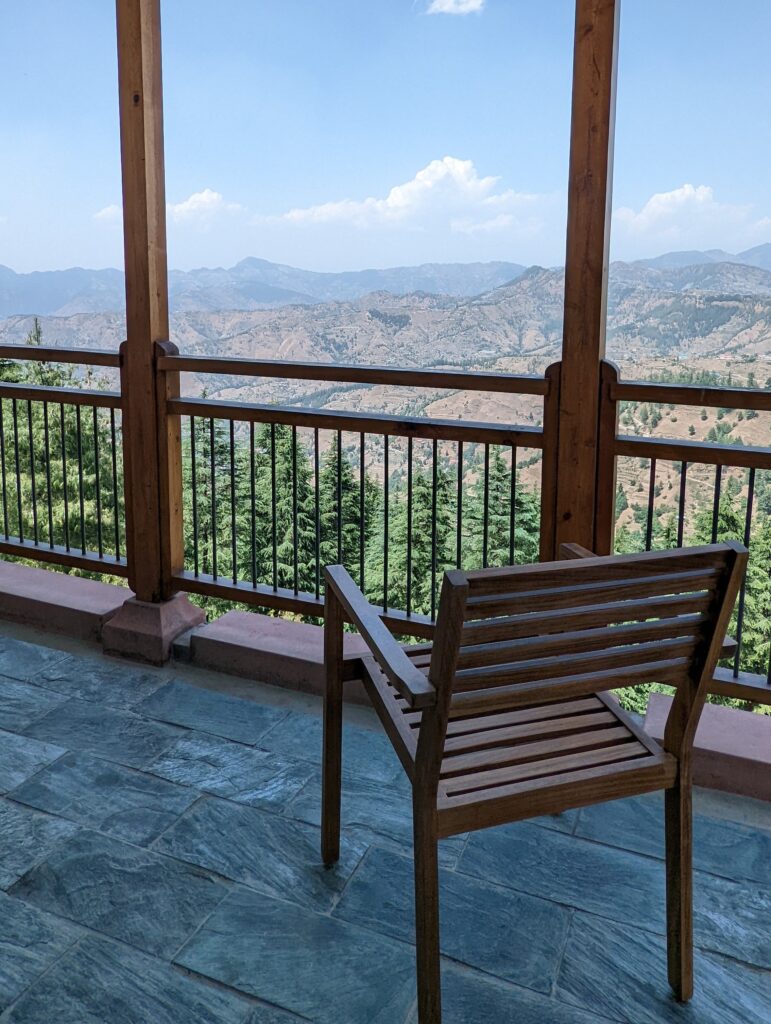
[[[322,855],[340,852],[343,623],[413,785],[420,1024],[441,1020],[437,840],[666,790],[669,980],[693,990],[691,750],[739,588],[739,544],[444,575],[434,642],[401,647],[341,565],[327,580]],[[677,688],[659,746],[606,691]]]

